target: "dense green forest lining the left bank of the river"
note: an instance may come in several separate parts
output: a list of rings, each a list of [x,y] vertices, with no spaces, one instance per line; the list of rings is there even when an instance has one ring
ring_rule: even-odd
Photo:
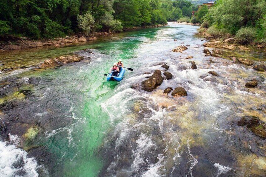
[[[186,0],[2,0],[0,36],[55,38],[191,18]]]

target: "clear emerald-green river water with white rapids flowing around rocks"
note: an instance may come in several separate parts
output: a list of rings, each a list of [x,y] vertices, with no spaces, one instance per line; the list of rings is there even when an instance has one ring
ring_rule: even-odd
[[[265,176],[266,141],[237,122],[242,116],[266,121],[266,75],[205,57],[197,28],[169,23],[90,43],[1,54],[5,67],[22,69],[0,73],[0,117],[10,137],[2,133],[0,175]],[[178,45],[190,46],[172,52]],[[85,60],[32,67],[71,53]],[[189,55],[194,58],[185,59]],[[107,82],[103,74],[118,59],[134,71]],[[190,60],[197,70],[189,69]],[[145,72],[164,70],[162,62],[173,79],[153,92],[130,88],[151,75]],[[245,88],[252,79],[259,86]],[[188,96],[163,94],[169,86],[184,87]]]

